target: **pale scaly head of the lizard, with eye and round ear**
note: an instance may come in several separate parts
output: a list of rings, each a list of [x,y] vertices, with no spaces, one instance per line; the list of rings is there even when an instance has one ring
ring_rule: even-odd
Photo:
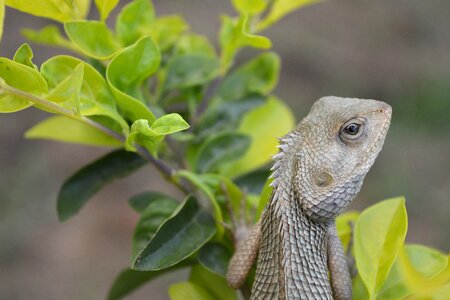
[[[359,192],[386,137],[391,107],[381,101],[324,97],[297,126],[295,191],[306,215],[329,221]]]

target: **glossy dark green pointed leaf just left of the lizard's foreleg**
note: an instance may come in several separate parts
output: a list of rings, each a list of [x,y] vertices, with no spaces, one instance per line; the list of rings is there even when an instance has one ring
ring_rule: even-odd
[[[195,253],[215,233],[214,219],[195,197],[189,196],[139,253],[133,269],[156,271],[175,265]]]

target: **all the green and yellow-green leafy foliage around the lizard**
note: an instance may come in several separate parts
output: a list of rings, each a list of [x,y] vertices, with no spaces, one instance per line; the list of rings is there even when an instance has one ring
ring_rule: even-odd
[[[217,50],[181,16],[158,16],[150,0],[123,6],[114,29],[105,20],[119,1],[95,0],[100,20],[86,19],[90,2],[0,0],[0,36],[6,4],[61,22],[65,33],[50,25],[22,34],[81,57],[57,55],[38,67],[23,44],[12,60],[0,58],[0,113],[34,107],[53,114],[28,130],[28,138],[119,148],[63,184],[57,200],[62,221],[147,161],[185,194],[184,201],[156,192],[130,199],[139,215],[133,269],[116,278],[108,299],[181,268],[191,273],[170,287],[171,299],[237,299],[224,279],[234,248],[227,229],[236,216],[254,223],[261,215],[272,192],[267,164],[275,137],[295,125],[273,95],[280,58],[264,51],[271,41],[259,33],[318,1],[232,0],[238,15],[222,16]],[[244,47],[261,53],[234,67]],[[403,198],[344,214],[336,223],[359,270],[354,299],[448,295],[448,257],[404,244]]]

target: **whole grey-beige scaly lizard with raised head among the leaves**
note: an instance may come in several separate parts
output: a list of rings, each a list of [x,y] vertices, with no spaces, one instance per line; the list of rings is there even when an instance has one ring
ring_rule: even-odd
[[[229,286],[241,288],[257,260],[250,299],[351,299],[335,218],[359,192],[391,115],[391,106],[377,100],[328,96],[313,104],[280,139],[270,200],[236,238]]]

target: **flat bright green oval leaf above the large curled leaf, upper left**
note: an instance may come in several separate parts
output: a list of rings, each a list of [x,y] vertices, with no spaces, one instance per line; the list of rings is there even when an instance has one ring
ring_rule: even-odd
[[[67,36],[85,54],[96,59],[110,59],[119,45],[105,23],[71,21],[64,24]]]

